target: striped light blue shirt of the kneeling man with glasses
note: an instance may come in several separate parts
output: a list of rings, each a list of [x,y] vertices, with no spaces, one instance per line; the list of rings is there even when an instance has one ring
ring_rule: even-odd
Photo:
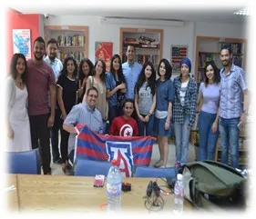
[[[74,105],[64,121],[64,124],[76,126],[77,124],[87,124],[88,127],[99,134],[103,134],[102,116],[97,109],[92,110],[87,103]],[[68,153],[75,149],[75,139],[77,134],[70,134],[68,139]]]

